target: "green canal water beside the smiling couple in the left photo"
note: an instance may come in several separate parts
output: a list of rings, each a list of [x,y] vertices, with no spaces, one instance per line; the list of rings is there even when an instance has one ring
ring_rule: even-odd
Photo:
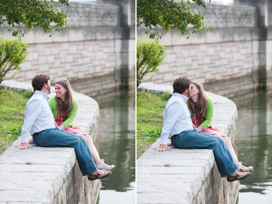
[[[99,156],[115,165],[102,179],[99,204],[135,204],[135,89],[92,96],[99,104]]]

